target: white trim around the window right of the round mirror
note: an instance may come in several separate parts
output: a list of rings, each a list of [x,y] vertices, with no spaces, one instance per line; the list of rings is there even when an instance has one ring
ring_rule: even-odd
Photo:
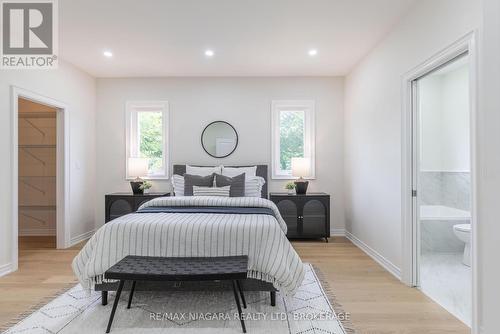
[[[271,103],[271,178],[281,180],[296,179],[290,174],[280,173],[280,111],[304,110],[304,155],[311,159],[311,174],[305,179],[316,178],[316,120],[315,102],[313,100],[275,100]]]

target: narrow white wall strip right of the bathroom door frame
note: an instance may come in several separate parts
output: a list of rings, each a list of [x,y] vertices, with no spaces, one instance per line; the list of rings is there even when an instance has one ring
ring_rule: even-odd
[[[500,1],[483,0],[478,108],[479,324],[482,334],[500,329]]]

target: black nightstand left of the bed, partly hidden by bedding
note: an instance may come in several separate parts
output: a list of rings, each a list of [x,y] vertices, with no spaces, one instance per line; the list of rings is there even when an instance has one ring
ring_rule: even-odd
[[[105,196],[105,223],[124,216],[128,213],[136,212],[139,207],[156,197],[170,196],[170,193],[147,193],[134,195],[132,193],[113,193]]]

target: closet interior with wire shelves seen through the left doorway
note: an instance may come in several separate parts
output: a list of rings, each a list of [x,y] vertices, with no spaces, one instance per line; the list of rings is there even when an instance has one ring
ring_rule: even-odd
[[[18,101],[19,236],[56,236],[57,109]]]

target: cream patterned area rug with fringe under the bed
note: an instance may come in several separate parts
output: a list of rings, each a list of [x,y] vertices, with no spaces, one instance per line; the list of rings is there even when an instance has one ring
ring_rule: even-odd
[[[243,317],[248,333],[351,334],[349,314],[325,292],[313,266],[305,264],[305,279],[294,296],[276,296],[270,305],[267,292],[246,292]],[[120,299],[111,333],[241,333],[232,291],[128,293]],[[330,298],[329,298],[330,297]],[[101,305],[101,294],[88,295],[80,285],[35,310],[5,333],[104,333],[111,312]],[[335,309],[334,309],[335,308]]]

